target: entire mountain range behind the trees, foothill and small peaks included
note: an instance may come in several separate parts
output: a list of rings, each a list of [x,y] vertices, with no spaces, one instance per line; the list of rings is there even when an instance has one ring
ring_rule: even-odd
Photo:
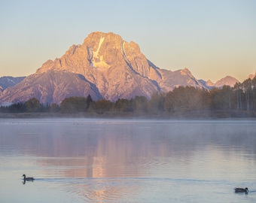
[[[0,77],[0,104],[25,102],[33,97],[41,103],[59,104],[64,98],[89,94],[93,100],[114,101],[136,95],[150,98],[153,92],[169,92],[177,86],[212,89],[237,82],[227,76],[212,83],[197,80],[187,68],[158,68],[135,42],[123,41],[114,33],[93,32],[59,59],[44,62],[35,74]]]

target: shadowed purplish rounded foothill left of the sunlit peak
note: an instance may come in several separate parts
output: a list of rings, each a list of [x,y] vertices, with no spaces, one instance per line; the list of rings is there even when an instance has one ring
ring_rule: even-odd
[[[102,98],[98,89],[83,75],[50,70],[29,75],[16,86],[6,89],[1,96],[1,101],[5,104],[17,103],[35,97],[40,99],[41,103],[59,103],[66,97],[86,97],[88,94],[94,100]]]

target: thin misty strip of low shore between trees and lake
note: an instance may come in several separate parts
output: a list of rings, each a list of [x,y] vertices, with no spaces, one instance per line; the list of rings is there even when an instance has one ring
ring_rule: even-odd
[[[47,118],[96,118],[96,119],[155,119],[155,120],[221,120],[248,119],[256,120],[256,112],[248,111],[187,111],[167,114],[105,112],[104,114],[81,112],[77,114],[34,112],[0,113],[0,119],[47,119]]]

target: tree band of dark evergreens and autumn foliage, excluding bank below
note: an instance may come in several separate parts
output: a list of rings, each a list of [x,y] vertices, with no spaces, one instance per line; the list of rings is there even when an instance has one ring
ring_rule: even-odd
[[[193,86],[178,86],[170,92],[154,92],[151,98],[119,98],[111,102],[105,98],[93,101],[90,95],[65,98],[58,104],[41,104],[37,98],[1,106],[2,113],[59,112],[63,114],[178,114],[191,111],[254,112],[256,111],[256,77],[235,86],[210,90]]]

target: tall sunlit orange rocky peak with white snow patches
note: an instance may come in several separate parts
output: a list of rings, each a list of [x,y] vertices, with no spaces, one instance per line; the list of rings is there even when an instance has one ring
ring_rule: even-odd
[[[150,97],[159,91],[157,69],[136,43],[127,43],[113,33],[93,32],[84,44],[73,45],[60,59],[47,61],[36,74],[49,70],[81,74],[95,84],[103,98],[115,100]]]

